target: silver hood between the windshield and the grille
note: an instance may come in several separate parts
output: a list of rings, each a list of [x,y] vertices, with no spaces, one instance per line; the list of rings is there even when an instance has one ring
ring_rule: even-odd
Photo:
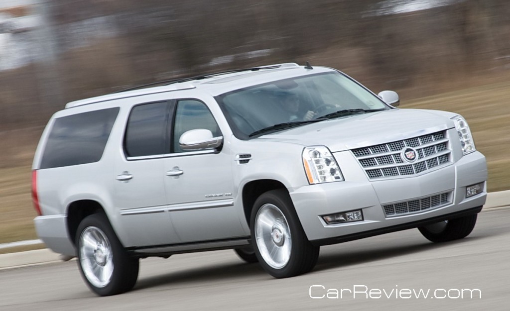
[[[310,123],[259,139],[325,145],[337,152],[444,131],[455,126],[450,120],[455,115],[437,110],[391,109]]]

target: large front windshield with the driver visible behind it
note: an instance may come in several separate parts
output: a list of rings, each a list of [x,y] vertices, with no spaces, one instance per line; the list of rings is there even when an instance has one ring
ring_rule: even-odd
[[[244,88],[220,95],[217,100],[234,134],[242,139],[328,118],[390,109],[338,72]]]

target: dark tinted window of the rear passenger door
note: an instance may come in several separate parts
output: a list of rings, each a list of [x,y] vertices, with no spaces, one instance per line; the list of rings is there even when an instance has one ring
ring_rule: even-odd
[[[166,101],[135,106],[127,121],[125,136],[127,156],[169,153],[168,115],[169,104]]]

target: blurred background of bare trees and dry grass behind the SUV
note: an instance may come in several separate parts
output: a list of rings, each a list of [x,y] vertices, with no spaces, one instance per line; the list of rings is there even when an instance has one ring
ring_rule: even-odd
[[[489,190],[510,189],[507,0],[0,0],[0,243],[35,238],[30,165],[66,102],[305,61],[461,113]]]

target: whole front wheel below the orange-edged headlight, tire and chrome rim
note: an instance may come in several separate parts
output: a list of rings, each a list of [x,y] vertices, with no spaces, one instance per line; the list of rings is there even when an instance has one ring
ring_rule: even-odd
[[[319,247],[304,234],[285,190],[268,191],[255,201],[250,228],[257,258],[270,275],[291,277],[315,267]]]

